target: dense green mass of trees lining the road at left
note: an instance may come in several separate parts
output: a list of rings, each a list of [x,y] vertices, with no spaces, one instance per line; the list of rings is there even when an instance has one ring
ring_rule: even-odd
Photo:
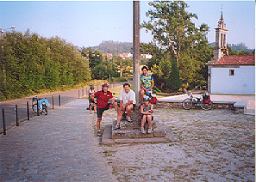
[[[64,39],[47,39],[28,30],[4,33],[0,46],[0,100],[91,79],[89,60]]]

